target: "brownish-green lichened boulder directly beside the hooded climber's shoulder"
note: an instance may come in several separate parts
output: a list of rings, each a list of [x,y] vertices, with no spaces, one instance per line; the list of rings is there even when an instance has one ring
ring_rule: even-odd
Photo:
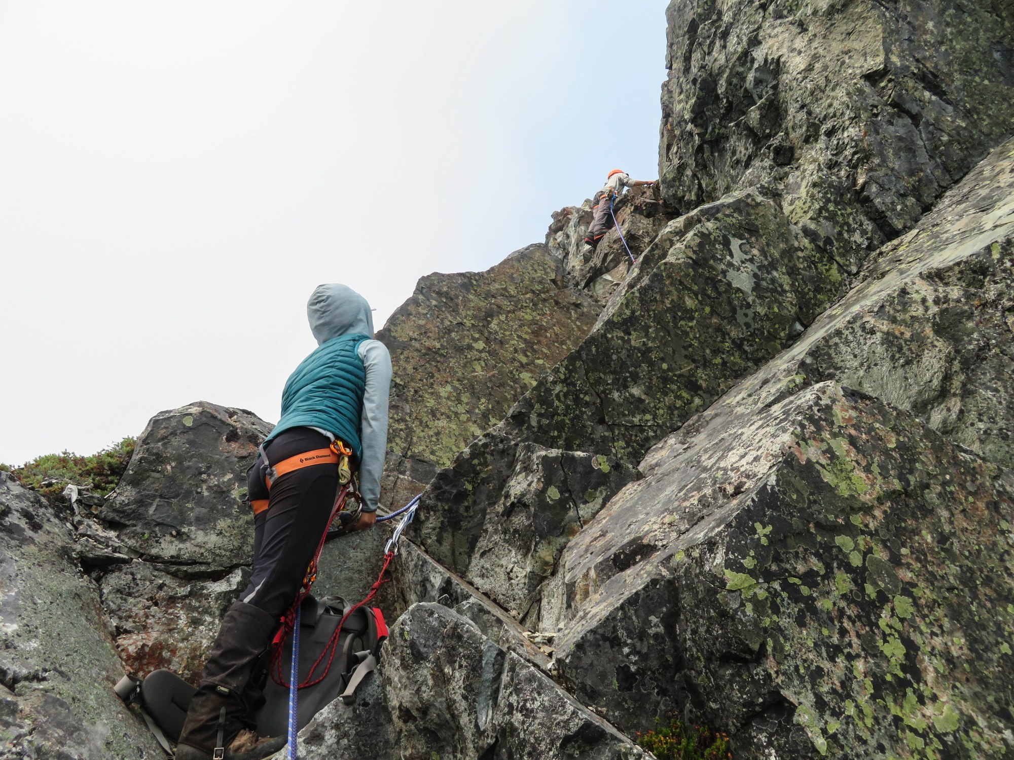
[[[486,272],[422,278],[377,333],[394,369],[388,449],[445,466],[588,333],[598,312],[566,287],[545,245]]]

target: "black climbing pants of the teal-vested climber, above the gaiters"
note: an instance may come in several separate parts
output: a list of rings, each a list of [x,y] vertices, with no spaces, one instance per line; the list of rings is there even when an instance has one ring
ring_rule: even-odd
[[[327,436],[309,428],[292,428],[266,447],[271,464],[315,449],[327,449]],[[331,462],[287,472],[275,480],[269,496],[264,462],[247,474],[247,499],[268,499],[268,509],[254,518],[254,575],[239,601],[280,616],[296,598],[306,565],[328,527],[338,495],[338,467]]]

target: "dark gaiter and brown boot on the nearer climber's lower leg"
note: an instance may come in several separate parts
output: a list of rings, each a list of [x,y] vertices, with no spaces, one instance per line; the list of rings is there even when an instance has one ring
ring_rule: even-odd
[[[225,613],[187,710],[177,760],[260,760],[285,746],[285,737],[260,739],[251,731],[264,704],[254,669],[277,627],[273,615],[251,604],[236,602]]]

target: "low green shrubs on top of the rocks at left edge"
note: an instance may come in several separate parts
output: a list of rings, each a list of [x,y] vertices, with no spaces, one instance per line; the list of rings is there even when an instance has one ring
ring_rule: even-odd
[[[67,483],[73,483],[104,497],[120,482],[136,442],[137,439],[128,437],[90,456],[64,451],[44,454],[20,467],[0,464],[0,469],[12,473],[22,485],[47,496],[56,496]]]

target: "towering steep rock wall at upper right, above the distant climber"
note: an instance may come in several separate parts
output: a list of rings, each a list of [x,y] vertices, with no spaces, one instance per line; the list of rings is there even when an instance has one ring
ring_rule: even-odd
[[[673,0],[662,197],[768,184],[850,269],[1014,123],[1007,3]]]

